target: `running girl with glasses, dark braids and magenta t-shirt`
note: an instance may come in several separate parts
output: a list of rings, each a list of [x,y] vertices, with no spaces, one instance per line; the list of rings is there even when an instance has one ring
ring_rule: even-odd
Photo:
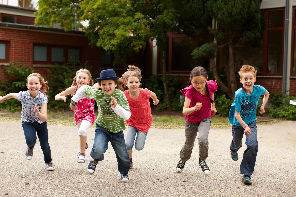
[[[192,85],[190,85],[192,83]],[[204,175],[209,175],[210,168],[205,160],[208,157],[211,115],[215,115],[214,92],[217,91],[216,81],[207,81],[207,71],[203,67],[195,67],[190,73],[187,88],[180,92],[185,96],[183,114],[185,115],[185,143],[180,151],[181,160],[177,163],[176,172],[181,173],[185,162],[190,159],[194,141],[198,132],[199,166]],[[211,107],[210,107],[211,105]]]

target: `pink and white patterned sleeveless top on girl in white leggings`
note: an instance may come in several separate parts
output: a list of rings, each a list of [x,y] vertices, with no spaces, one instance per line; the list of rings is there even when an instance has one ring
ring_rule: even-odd
[[[76,86],[76,91],[77,87],[78,86]],[[76,106],[77,108],[74,110],[75,124],[78,124],[83,120],[87,120],[91,124],[94,124],[94,120],[96,119],[96,114],[94,113],[94,99],[86,97],[81,98]]]

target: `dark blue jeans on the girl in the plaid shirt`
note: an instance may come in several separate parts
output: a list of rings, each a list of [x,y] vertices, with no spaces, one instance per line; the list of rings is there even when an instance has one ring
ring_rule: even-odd
[[[38,122],[31,123],[31,122],[22,121],[22,128],[24,129],[26,144],[29,148],[34,147],[37,140],[37,137],[36,137],[36,132],[37,132],[41,150],[43,151],[43,155],[44,155],[44,162],[45,163],[52,162],[51,151],[48,144],[48,132],[47,132],[46,121],[42,124],[39,124]]]

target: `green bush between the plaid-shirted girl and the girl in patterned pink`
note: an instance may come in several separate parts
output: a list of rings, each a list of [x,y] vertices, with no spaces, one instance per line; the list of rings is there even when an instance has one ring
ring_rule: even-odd
[[[47,69],[48,71],[48,86],[47,94],[49,96],[48,109],[51,110],[70,110],[69,104],[71,96],[67,96],[67,101],[56,101],[54,96],[69,88],[73,82],[77,70],[86,68],[91,72],[91,76],[95,77],[96,73],[92,72],[92,67],[88,65],[81,66],[80,63],[64,63],[63,65],[55,65],[54,68]],[[94,81],[94,83],[96,83]]]

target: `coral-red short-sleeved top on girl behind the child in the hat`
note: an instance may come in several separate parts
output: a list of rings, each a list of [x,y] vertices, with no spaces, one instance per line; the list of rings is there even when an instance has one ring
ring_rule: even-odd
[[[128,95],[128,90],[124,91],[131,110],[131,117],[126,120],[126,124],[145,133],[148,132],[152,123],[151,106],[149,101],[151,91],[147,88],[139,89],[140,94],[136,99],[133,99]]]

